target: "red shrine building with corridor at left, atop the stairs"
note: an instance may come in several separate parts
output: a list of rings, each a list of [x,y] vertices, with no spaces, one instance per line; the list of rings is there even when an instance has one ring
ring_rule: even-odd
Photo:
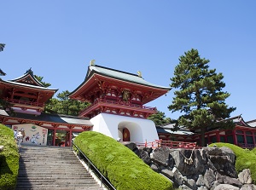
[[[73,134],[90,130],[92,124],[88,118],[43,112],[45,102],[56,91],[45,88],[31,69],[20,78],[9,81],[0,78],[0,99],[9,103],[13,111],[0,110],[0,123],[20,130],[24,144],[71,145]],[[58,139],[57,134],[63,139]]]

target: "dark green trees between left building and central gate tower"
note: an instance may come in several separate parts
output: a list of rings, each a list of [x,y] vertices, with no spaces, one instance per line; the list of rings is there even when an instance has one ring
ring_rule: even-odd
[[[45,112],[55,112],[59,114],[78,116],[81,110],[90,105],[88,102],[69,99],[69,94],[70,92],[65,90],[59,93],[57,98],[49,99],[45,107]]]

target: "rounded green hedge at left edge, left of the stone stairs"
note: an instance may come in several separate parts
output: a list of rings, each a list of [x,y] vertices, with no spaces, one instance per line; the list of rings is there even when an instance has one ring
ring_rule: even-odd
[[[19,170],[19,153],[14,131],[0,124],[0,189],[15,189]]]

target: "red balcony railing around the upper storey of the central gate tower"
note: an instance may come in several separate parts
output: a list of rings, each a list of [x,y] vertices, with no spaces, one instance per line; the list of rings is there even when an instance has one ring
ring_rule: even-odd
[[[112,101],[112,100],[105,100],[105,99],[100,98],[100,99],[96,100],[95,102],[93,102],[89,107],[86,107],[84,110],[79,112],[79,114],[81,114],[84,111],[90,110],[90,107],[94,107],[98,103],[110,103],[110,104],[115,104],[115,105],[120,105],[120,106],[138,107],[138,108],[152,110],[152,111],[156,110],[156,107],[146,107],[146,106],[142,106],[142,105],[132,104],[130,102]]]

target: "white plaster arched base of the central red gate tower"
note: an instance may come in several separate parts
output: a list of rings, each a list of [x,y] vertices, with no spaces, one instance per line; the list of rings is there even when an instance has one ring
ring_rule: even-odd
[[[154,122],[145,118],[132,118],[127,116],[100,113],[90,119],[93,131],[108,135],[113,139],[122,140],[122,129],[130,131],[131,141],[148,142],[159,140]]]

